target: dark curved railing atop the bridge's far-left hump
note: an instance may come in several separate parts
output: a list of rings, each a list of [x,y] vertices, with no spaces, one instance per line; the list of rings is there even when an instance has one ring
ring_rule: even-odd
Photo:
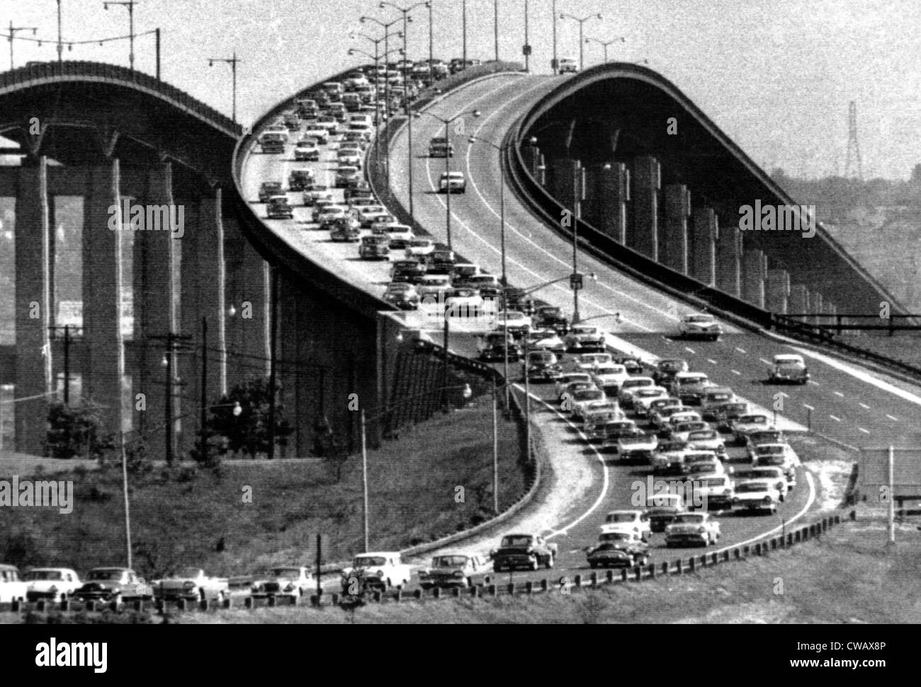
[[[239,135],[242,132],[242,127],[234,123],[227,115],[208,107],[201,100],[197,100],[176,86],[170,86],[150,74],[121,67],[117,64],[81,61],[29,63],[26,66],[0,73],[0,93],[12,86],[20,86],[36,81],[54,81],[59,78],[73,79],[79,76],[114,82],[130,82],[134,86],[140,86],[161,94],[182,108],[191,110],[204,119],[211,120],[218,127],[231,132],[233,135]]]

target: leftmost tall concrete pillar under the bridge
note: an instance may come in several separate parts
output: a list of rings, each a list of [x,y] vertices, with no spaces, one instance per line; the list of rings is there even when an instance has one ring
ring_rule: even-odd
[[[48,166],[19,168],[16,194],[16,448],[41,455],[52,381]]]

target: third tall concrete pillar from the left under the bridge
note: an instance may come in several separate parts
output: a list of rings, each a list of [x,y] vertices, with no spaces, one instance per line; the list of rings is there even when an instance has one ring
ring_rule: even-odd
[[[136,202],[137,200],[135,200]],[[146,204],[173,206],[172,167],[164,163],[147,173]],[[169,351],[164,338],[179,334],[176,318],[176,241],[172,232],[155,231],[146,226],[134,232],[134,317],[135,331],[143,341],[143,352],[137,357],[138,379],[133,380],[134,393],[144,394],[146,411],[139,418],[139,427],[157,428],[147,437],[155,460],[162,460],[166,452],[167,431],[164,429],[166,395],[172,394],[172,417],[181,415],[180,387],[167,384],[166,371],[161,361],[169,355],[175,377],[179,376],[178,356]],[[137,326],[140,315],[140,326]],[[182,332],[189,334],[190,332]],[[186,380],[189,382],[190,380]],[[187,388],[187,387],[186,387]],[[194,387],[192,387],[194,388]],[[174,421],[174,429],[178,426]],[[176,432],[169,433],[176,457]]]

